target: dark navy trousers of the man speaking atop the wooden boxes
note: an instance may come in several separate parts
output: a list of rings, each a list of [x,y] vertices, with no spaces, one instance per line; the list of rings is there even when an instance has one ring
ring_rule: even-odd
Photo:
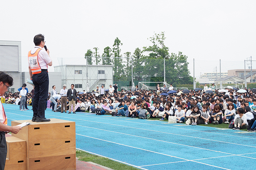
[[[44,118],[45,106],[49,90],[49,76],[47,71],[33,75],[33,83],[35,85],[35,93],[33,99],[33,116]]]

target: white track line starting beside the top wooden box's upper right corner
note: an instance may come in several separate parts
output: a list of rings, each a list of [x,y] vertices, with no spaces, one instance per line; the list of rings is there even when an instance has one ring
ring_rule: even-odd
[[[152,138],[147,138],[147,137],[141,137],[141,136],[136,136],[136,135],[125,134],[125,133],[121,133],[121,132],[114,132],[114,131],[109,131],[109,130],[103,130],[103,129],[99,129],[99,128],[92,128],[92,127],[83,126],[83,125],[76,125],[76,126],[81,126],[81,127],[91,128],[91,129],[97,129],[97,130],[102,130],[102,131],[107,131],[107,132],[112,132],[112,133],[117,133],[117,134],[122,134],[122,135],[134,136],[134,137],[139,137],[139,138],[144,138],[144,139],[149,139],[149,140],[154,140],[154,141],[159,141],[159,142],[166,142],[166,143],[172,143],[172,144],[177,144],[177,145],[182,145],[182,146],[188,146],[188,147],[193,147],[193,148],[197,148],[197,149],[204,149],[204,150],[209,150],[209,151],[214,151],[214,152],[219,152],[219,153],[225,153],[225,154],[229,154],[229,155],[237,155],[237,154],[221,152],[221,151],[217,151],[217,150],[206,149],[206,148],[196,147],[196,146],[191,146],[191,145],[186,145],[186,144],[162,141],[162,140],[158,140],[158,139],[152,139]],[[220,156],[220,157],[222,157],[222,156]],[[242,157],[246,157],[246,156],[242,156]],[[251,158],[251,157],[248,157],[248,158]],[[208,158],[202,158],[202,159],[208,159]],[[256,158],[252,158],[252,159],[256,159]],[[200,160],[200,159],[198,159],[198,160]]]

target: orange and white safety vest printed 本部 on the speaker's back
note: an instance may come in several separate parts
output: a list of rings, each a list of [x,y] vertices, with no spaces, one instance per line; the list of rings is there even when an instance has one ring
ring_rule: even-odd
[[[32,74],[38,74],[42,72],[38,62],[38,53],[40,50],[42,49],[38,48],[34,54],[31,54],[31,50],[28,53],[29,65],[30,65]]]

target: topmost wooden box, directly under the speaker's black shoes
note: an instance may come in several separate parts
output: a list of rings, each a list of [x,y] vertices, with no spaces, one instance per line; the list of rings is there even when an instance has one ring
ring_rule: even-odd
[[[30,122],[31,125],[23,127],[18,134],[12,134],[12,136],[27,142],[75,138],[75,122],[61,119],[51,119],[50,122],[17,120],[12,121],[12,126],[19,125],[25,121]]]

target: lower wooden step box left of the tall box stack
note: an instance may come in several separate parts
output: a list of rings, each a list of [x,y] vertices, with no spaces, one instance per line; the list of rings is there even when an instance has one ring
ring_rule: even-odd
[[[16,137],[6,137],[7,156],[5,170],[26,170],[26,141]]]

